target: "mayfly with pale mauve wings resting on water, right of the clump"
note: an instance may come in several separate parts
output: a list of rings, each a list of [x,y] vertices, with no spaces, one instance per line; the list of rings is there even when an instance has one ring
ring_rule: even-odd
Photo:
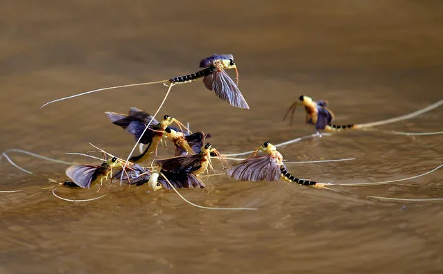
[[[259,155],[258,152],[265,154]],[[277,147],[269,142],[263,143],[254,150],[245,160],[235,163],[227,170],[227,175],[239,181],[286,181],[300,185],[312,185],[322,188],[324,183],[311,180],[298,179],[291,175],[283,163],[283,156],[277,151]]]

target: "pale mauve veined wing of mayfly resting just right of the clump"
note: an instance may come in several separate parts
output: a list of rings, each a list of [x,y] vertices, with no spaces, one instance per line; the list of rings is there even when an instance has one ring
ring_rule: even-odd
[[[281,176],[280,165],[275,158],[255,156],[229,167],[227,175],[240,181],[278,181]]]

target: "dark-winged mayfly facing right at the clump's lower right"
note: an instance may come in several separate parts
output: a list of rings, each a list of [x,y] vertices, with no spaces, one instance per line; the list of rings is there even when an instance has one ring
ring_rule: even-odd
[[[162,182],[159,178],[159,174],[162,173],[175,188],[205,188],[205,184],[197,177],[211,167],[211,154],[220,157],[218,151],[207,143],[199,154],[156,160],[159,169],[151,174],[149,187],[153,190],[161,188],[157,180]],[[162,182],[162,185],[166,184]]]

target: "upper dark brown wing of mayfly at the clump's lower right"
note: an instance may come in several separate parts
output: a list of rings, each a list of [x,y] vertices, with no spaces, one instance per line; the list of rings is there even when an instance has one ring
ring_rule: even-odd
[[[200,167],[200,155],[185,155],[156,160],[155,163],[168,172],[182,173],[193,172]]]

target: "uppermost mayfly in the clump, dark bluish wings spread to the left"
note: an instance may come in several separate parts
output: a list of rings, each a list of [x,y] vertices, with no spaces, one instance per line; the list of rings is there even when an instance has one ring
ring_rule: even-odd
[[[148,158],[157,152],[157,147],[162,140],[166,127],[173,124],[173,122],[177,123],[179,127],[183,126],[180,121],[169,115],[165,115],[161,121],[157,121],[153,116],[135,107],[130,108],[128,115],[110,111],[105,113],[114,125],[123,127],[123,129],[134,135],[136,142],[139,140],[139,143],[148,145],[142,154],[130,158],[130,161],[134,163],[148,161]],[[151,120],[152,125],[149,125],[146,129],[146,125]]]

